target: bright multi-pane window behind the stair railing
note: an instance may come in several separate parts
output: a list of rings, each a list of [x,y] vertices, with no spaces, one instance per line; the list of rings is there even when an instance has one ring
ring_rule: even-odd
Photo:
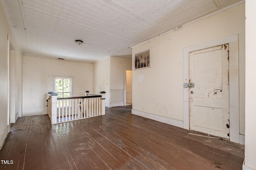
[[[55,92],[58,98],[71,96],[71,78],[55,78]]]

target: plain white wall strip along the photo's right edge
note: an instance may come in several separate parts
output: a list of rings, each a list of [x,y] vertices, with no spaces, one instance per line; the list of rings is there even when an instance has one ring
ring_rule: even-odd
[[[243,170],[256,170],[256,1],[246,0],[246,86],[245,86],[245,159]]]

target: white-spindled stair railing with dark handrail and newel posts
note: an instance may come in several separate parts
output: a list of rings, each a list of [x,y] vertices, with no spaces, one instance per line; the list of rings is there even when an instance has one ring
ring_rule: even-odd
[[[52,124],[105,115],[105,93],[57,98],[57,93],[48,92],[47,113]]]

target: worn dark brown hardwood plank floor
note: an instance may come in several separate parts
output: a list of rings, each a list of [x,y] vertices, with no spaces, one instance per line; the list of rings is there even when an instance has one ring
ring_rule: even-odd
[[[10,164],[1,161],[0,169],[242,169],[244,146],[132,115],[131,108],[106,107],[104,116],[57,125],[48,115],[19,117],[0,150]]]

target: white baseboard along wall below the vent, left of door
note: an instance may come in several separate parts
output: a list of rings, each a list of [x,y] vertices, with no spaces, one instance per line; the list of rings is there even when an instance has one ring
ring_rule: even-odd
[[[163,116],[160,116],[160,115],[154,115],[152,113],[146,113],[146,112],[138,111],[138,110],[134,110],[134,109],[132,109],[132,114],[138,115],[138,116],[141,116],[141,117],[146,117],[148,119],[152,119],[152,120],[159,121],[159,122],[162,122],[162,123],[166,123],[168,125],[181,127],[183,129],[183,121],[180,121],[180,120],[172,119],[172,118],[169,118],[169,117],[163,117]]]

